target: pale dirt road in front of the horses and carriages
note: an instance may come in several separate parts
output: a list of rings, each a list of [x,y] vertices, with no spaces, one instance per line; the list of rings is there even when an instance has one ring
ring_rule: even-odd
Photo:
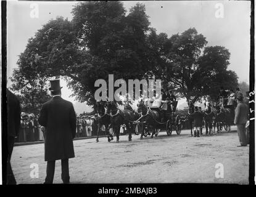
[[[122,136],[120,143],[105,138],[99,143],[76,140],[70,182],[249,183],[249,146],[237,147],[236,127],[230,133],[212,136],[189,137],[189,132],[171,136],[160,132],[158,137],[143,140],[133,135],[131,142]],[[42,183],[46,175],[44,144],[14,147],[11,163],[17,183]],[[38,178],[31,178],[31,164],[38,164]],[[222,165],[223,178],[217,178],[215,172],[220,172]],[[62,183],[60,161],[56,162],[54,183]]]

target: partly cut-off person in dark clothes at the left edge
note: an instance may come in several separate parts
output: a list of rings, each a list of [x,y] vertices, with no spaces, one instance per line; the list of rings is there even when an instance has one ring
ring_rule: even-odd
[[[20,131],[20,102],[19,99],[7,89],[7,185],[15,185],[16,180],[12,167],[10,166],[10,157],[14,148],[15,137]]]

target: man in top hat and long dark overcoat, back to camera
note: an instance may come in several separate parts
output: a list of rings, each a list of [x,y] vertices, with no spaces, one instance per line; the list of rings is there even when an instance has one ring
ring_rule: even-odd
[[[46,179],[44,183],[52,183],[54,179],[55,161],[61,159],[64,183],[70,182],[68,158],[74,158],[73,139],[76,134],[76,115],[71,102],[60,97],[59,79],[51,80],[52,98],[43,104],[38,122],[44,126],[44,159],[47,161]]]

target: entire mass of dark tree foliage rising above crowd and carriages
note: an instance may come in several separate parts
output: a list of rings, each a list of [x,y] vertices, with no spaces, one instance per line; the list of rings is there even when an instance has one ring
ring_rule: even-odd
[[[164,88],[194,102],[217,97],[220,86],[237,86],[225,47],[206,46],[194,28],[170,38],[157,34],[143,4],[127,12],[120,1],[79,2],[72,14],[71,21],[50,20],[28,40],[12,76],[14,90],[41,82],[38,90],[44,91],[47,79],[62,76],[76,100],[93,105],[94,82],[107,81],[108,74],[114,80],[162,79]]]

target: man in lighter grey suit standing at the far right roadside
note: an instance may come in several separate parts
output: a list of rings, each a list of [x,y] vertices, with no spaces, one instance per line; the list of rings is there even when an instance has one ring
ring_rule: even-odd
[[[234,124],[237,126],[237,134],[239,137],[239,142],[241,146],[239,147],[246,147],[249,143],[247,135],[246,135],[246,122],[247,122],[247,115],[248,115],[248,107],[246,103],[243,102],[243,96],[240,92],[236,96],[237,98],[237,107],[235,110],[234,115]]]

